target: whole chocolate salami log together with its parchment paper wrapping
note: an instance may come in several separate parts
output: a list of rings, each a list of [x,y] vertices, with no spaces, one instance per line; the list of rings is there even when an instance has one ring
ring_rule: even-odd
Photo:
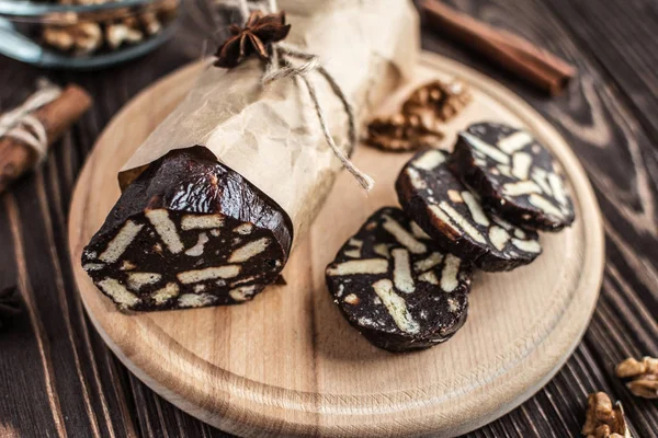
[[[256,56],[230,69],[208,59],[186,70],[184,100],[118,172],[124,193],[82,258],[120,307],[231,304],[274,281],[343,166],[337,150],[352,152],[349,115],[360,125],[411,76],[419,42],[410,2],[277,3],[292,25],[282,44],[297,54],[281,53],[280,65],[311,57],[304,81],[265,80],[273,71]],[[194,145],[212,153],[200,159],[203,151],[188,149]]]

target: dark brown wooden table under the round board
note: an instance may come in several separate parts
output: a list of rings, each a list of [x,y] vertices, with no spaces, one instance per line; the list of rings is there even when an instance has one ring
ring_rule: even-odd
[[[0,437],[228,437],[160,399],[91,327],[71,276],[67,211],[94,139],[123,104],[201,55],[216,26],[189,0],[183,28],[151,55],[112,69],[52,72],[0,58],[0,110],[39,76],[75,81],[95,105],[39,171],[0,203],[0,287],[18,284],[26,311],[0,333]],[[469,437],[572,437],[587,394],[620,399],[635,437],[658,436],[658,403],[613,376],[627,356],[658,356],[658,2],[460,0],[460,9],[514,31],[579,69],[569,92],[546,99],[423,30],[426,49],[457,58],[525,97],[572,145],[604,216],[608,263],[595,314],[561,371],[535,396]]]

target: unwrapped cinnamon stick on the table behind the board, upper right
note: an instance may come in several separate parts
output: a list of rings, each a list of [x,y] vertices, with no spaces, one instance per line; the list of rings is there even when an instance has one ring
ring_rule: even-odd
[[[421,8],[434,31],[470,47],[551,95],[560,94],[576,76],[571,65],[527,39],[457,12],[439,0],[424,0]]]

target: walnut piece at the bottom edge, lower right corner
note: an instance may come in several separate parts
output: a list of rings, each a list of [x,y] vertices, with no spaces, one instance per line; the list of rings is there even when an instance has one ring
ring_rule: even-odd
[[[604,392],[590,394],[582,435],[588,438],[632,438],[622,404],[617,402],[613,406]]]

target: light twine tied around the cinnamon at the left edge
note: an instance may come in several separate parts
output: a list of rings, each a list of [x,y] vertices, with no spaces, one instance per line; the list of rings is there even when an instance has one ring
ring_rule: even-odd
[[[61,89],[49,82],[39,84],[39,89],[19,107],[0,116],[0,138],[13,138],[29,147],[42,162],[47,154],[48,136],[44,125],[32,113],[55,101],[61,94]]]

